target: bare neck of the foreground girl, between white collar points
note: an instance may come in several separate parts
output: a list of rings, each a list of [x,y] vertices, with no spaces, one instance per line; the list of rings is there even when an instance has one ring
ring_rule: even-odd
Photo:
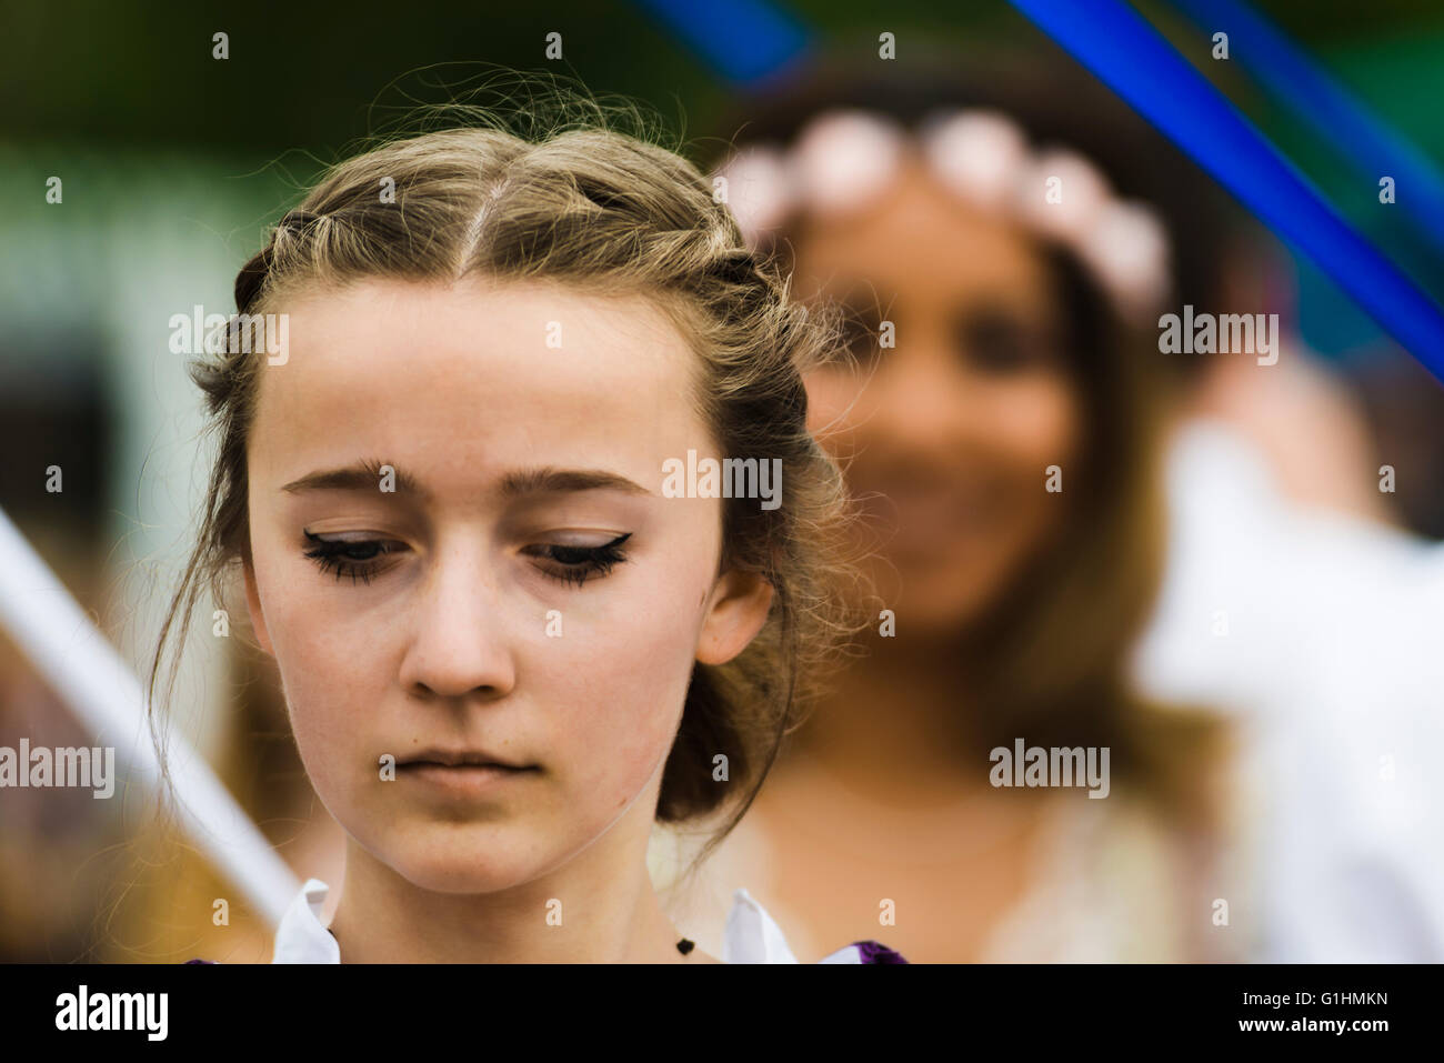
[[[708,963],[661,910],[643,858],[608,867],[599,839],[560,871],[492,894],[422,890],[347,841],[331,933],[342,963]]]

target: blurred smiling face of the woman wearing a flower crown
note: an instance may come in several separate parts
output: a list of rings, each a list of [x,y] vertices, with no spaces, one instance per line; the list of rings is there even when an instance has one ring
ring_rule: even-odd
[[[1048,467],[1080,456],[1047,260],[917,163],[877,208],[813,220],[793,243],[799,293],[851,302],[872,326],[859,354],[878,347],[878,305],[897,328],[862,373],[809,377],[812,422],[874,510],[878,586],[914,631],[956,630],[1057,534],[1064,495],[1045,490]]]

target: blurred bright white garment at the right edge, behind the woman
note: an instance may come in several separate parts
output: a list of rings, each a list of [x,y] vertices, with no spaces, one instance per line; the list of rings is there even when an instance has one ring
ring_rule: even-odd
[[[1444,546],[1292,507],[1222,423],[1178,432],[1167,494],[1135,677],[1246,737],[1251,959],[1444,962]]]

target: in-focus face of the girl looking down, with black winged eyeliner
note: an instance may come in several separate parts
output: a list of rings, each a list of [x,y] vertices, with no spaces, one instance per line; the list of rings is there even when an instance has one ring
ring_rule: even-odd
[[[427,890],[523,884],[593,842],[640,861],[693,663],[739,653],[771,599],[718,578],[719,500],[661,494],[664,461],[716,452],[696,354],[640,298],[543,283],[283,309],[245,583],[321,800]]]

